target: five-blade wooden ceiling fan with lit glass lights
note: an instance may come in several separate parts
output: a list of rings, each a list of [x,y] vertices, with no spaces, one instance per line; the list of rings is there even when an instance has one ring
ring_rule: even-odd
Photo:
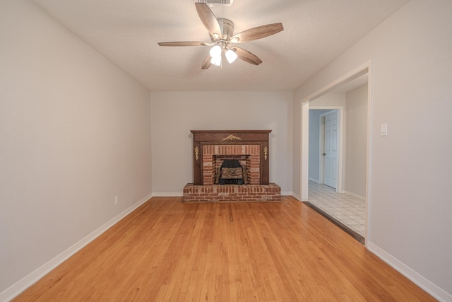
[[[208,69],[210,66],[220,66],[222,53],[225,53],[227,62],[234,62],[237,57],[244,62],[258,65],[262,63],[255,54],[248,50],[234,46],[235,43],[249,42],[262,39],[269,35],[274,35],[282,31],[282,23],[261,25],[256,28],[244,30],[234,35],[234,23],[225,18],[216,18],[210,8],[205,3],[195,3],[199,18],[209,32],[210,42],[160,42],[160,46],[212,46],[206,59],[204,59],[201,69]]]

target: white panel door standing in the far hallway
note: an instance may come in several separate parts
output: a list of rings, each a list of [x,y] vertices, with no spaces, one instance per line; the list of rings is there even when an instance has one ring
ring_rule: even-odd
[[[336,188],[338,182],[338,112],[326,113],[323,151],[323,183]]]

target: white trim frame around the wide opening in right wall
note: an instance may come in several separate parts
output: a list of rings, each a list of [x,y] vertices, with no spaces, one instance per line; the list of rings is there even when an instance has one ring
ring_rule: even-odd
[[[326,93],[329,93],[333,91],[338,86],[343,85],[344,83],[347,83],[349,81],[352,81],[354,79],[357,79],[359,76],[362,76],[364,74],[368,75],[368,81],[367,81],[367,156],[366,156],[366,212],[367,212],[367,219],[366,219],[366,236],[365,237],[365,243],[364,245],[367,247],[367,243],[369,242],[369,233],[371,233],[371,230],[369,229],[369,217],[370,217],[370,204],[371,204],[371,198],[370,192],[371,192],[371,110],[372,110],[372,61],[369,60],[368,62],[365,62],[361,66],[358,66],[357,68],[353,69],[352,71],[349,71],[347,74],[344,74],[343,76],[340,76],[335,81],[332,81],[326,86],[323,86],[323,88],[320,88],[318,91],[312,93],[311,95],[308,95],[307,98],[303,98],[300,100],[301,103],[301,122],[299,124],[301,139],[300,139],[300,199],[302,201],[308,200],[308,190],[309,190],[309,102],[311,100],[315,100],[316,98],[321,97],[322,95],[325,95]],[[341,156],[342,157],[342,156]]]

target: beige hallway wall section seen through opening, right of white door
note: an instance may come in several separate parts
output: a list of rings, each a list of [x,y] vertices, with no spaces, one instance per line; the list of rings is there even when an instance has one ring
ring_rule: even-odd
[[[348,91],[345,106],[345,191],[366,197],[367,84]]]

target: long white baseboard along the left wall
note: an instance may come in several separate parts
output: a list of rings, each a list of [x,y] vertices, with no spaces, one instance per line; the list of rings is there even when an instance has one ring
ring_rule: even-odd
[[[93,231],[93,233],[90,233],[88,236],[78,241],[78,243],[72,245],[64,252],[61,252],[61,254],[57,255],[57,257],[54,257],[52,260],[42,265],[42,267],[36,269],[34,272],[28,274],[28,276],[9,286],[8,289],[5,289],[0,293],[0,301],[11,301],[14,297],[18,296],[18,294],[25,291],[25,289],[28,289],[28,287],[32,286],[32,284],[35,284],[36,281],[52,271],[52,269],[54,269],[58,265],[61,265],[61,263],[81,250],[83,247],[85,247],[85,245],[88,245],[88,243],[95,240],[95,238],[102,235],[102,233],[114,226],[125,216],[129,215],[132,211],[140,207],[141,204],[147,202],[151,197],[153,197],[153,194],[149,194],[140,201],[136,202],[136,204],[133,204],[131,207],[121,212],[121,214],[115,216],[113,219],[100,226],[100,228],[97,228],[97,230]]]

